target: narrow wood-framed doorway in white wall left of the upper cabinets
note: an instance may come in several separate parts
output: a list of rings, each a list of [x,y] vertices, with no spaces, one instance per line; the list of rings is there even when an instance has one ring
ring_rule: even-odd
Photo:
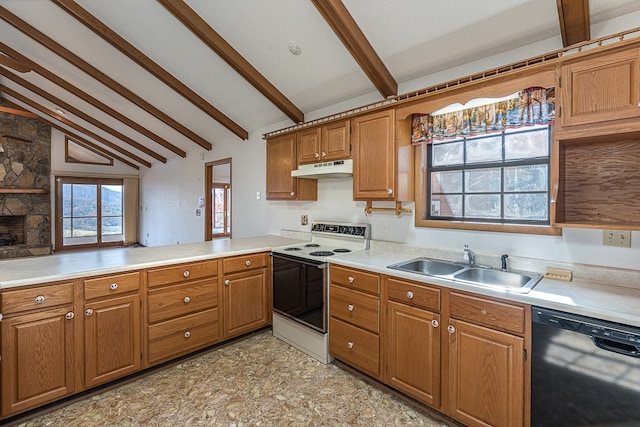
[[[205,240],[231,237],[231,158],[205,164]]]

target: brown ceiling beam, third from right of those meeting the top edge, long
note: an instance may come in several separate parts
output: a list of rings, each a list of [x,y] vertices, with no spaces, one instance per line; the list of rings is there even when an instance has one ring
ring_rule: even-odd
[[[224,115],[220,110],[211,105],[207,100],[195,93],[191,88],[175,78],[164,68],[156,64],[153,60],[151,60],[151,58],[146,56],[135,46],[126,41],[123,37],[121,37],[118,33],[101,22],[98,18],[91,15],[76,2],[74,2],[73,0],[51,1],[62,8],[62,10],[76,18],[79,22],[96,33],[98,36],[102,37],[104,41],[108,42],[109,44],[111,44],[111,46],[118,49],[122,54],[134,61],[143,69],[147,70],[149,73],[151,73],[151,75],[155,76],[158,80],[172,88],[193,105],[200,108],[212,119],[233,132],[235,135],[239,136],[242,139],[249,138],[249,132],[244,130],[242,127],[240,127],[240,125],[235,123],[229,117]]]

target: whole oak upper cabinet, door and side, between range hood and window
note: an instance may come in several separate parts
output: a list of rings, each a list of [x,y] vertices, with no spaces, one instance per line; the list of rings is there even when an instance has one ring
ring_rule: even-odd
[[[413,200],[410,119],[397,125],[389,109],[356,117],[351,127],[353,199]]]

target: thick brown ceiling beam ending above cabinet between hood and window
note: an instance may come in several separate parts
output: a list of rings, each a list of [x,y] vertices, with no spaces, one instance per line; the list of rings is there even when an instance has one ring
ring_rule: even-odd
[[[385,98],[398,94],[398,83],[340,0],[311,0],[325,21]]]

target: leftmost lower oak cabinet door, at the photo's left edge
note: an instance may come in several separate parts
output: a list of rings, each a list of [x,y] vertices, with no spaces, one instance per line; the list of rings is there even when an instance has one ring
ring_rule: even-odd
[[[2,321],[2,415],[74,392],[73,306]]]

